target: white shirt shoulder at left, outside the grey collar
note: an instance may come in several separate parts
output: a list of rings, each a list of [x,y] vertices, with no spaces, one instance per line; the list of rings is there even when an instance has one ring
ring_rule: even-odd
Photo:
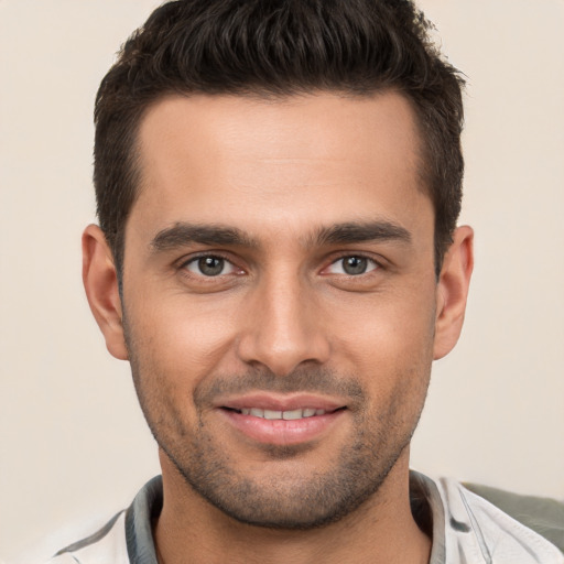
[[[46,564],[129,564],[124,511],[99,531],[61,550]]]

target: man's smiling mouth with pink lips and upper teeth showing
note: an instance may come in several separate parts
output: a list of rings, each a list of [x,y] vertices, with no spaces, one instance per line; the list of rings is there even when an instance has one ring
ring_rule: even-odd
[[[344,421],[347,406],[313,397],[254,395],[218,405],[239,436],[270,445],[296,445],[321,440]]]

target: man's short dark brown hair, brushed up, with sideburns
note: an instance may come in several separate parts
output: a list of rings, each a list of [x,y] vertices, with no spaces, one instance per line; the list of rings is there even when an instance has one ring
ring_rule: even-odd
[[[156,9],[96,98],[97,212],[118,272],[139,184],[135,139],[155,100],[393,89],[417,117],[438,273],[460,210],[464,80],[429,40],[430,26],[410,0],[176,0]]]

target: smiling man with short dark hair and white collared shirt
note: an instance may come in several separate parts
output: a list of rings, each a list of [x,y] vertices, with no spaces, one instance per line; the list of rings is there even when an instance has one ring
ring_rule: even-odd
[[[459,336],[462,79],[411,3],[180,1],[96,106],[84,281],[162,480],[53,562],[563,562],[409,470]]]

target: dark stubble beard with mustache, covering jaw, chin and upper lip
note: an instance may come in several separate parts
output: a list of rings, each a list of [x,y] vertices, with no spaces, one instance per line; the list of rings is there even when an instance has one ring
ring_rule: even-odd
[[[216,378],[198,387],[194,403],[197,429],[187,429],[163,387],[147,389],[145,383],[166,381],[155,373],[141,373],[138,357],[130,360],[141,408],[159,446],[176,467],[186,485],[232,519],[256,527],[280,530],[310,530],[339,521],[373,498],[408,447],[423,408],[429,375],[422,389],[413,390],[414,377],[400,377],[387,409],[371,414],[368,398],[357,380],[324,369],[302,369],[279,378],[269,371],[253,370],[242,377]],[[430,367],[429,367],[430,371]],[[419,375],[420,377],[422,375]],[[410,386],[411,388],[409,388]],[[334,454],[334,463],[322,470],[305,465],[280,469],[257,477],[237,470],[229,454],[214,440],[203,417],[206,402],[215,391],[323,391],[351,398],[352,441]],[[405,416],[404,400],[419,393],[419,404]],[[410,398],[410,399],[411,399]],[[299,460],[308,445],[264,446],[271,460]]]

